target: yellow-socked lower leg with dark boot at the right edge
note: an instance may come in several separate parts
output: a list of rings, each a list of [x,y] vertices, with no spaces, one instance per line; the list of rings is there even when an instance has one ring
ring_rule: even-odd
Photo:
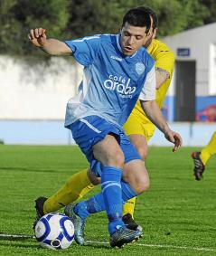
[[[202,174],[205,170],[205,166],[210,159],[211,156],[216,154],[216,131],[211,136],[211,140],[209,141],[208,145],[202,148],[201,152],[193,152],[193,174],[196,180],[202,179]]]

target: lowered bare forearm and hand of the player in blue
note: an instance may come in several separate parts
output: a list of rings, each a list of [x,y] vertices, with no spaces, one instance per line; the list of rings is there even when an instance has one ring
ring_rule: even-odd
[[[173,151],[177,151],[179,147],[182,146],[183,139],[177,132],[169,128],[163,117],[161,109],[159,109],[155,100],[140,100],[140,102],[147,118],[150,119],[155,124],[155,126],[164,133],[164,137],[166,137],[167,140],[174,143]]]

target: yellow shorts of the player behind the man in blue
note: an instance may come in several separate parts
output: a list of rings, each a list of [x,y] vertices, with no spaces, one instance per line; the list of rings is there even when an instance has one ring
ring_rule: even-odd
[[[128,136],[139,134],[145,136],[148,141],[154,135],[155,126],[144,114],[138,116],[135,113],[134,109],[123,128]]]

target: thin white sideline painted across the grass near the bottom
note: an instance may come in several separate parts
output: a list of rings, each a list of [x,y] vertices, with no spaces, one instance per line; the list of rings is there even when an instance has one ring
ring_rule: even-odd
[[[33,238],[34,235],[25,235],[25,234],[9,234],[9,233],[0,233],[0,237],[4,238]],[[109,242],[98,242],[98,241],[86,241],[89,243],[98,243],[98,244],[109,244]],[[155,248],[169,248],[169,249],[184,249],[184,250],[193,250],[193,251],[216,251],[213,248],[205,248],[205,247],[190,247],[190,246],[177,246],[177,245],[169,245],[169,244],[147,244],[147,243],[133,243],[138,246],[144,247],[155,247]]]

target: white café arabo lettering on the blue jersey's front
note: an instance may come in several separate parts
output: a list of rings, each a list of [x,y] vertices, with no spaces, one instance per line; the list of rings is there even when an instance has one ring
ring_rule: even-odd
[[[122,98],[132,98],[132,93],[136,91],[136,87],[129,86],[130,79],[126,80],[122,76],[108,76],[108,80],[104,81],[104,86],[108,90],[117,90]]]

